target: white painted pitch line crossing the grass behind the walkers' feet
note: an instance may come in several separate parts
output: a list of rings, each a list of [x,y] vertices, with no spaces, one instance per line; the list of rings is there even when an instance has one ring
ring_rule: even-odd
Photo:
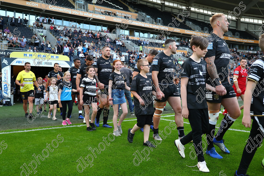
[[[172,117],[174,115],[167,115],[167,116],[162,116],[162,117]],[[129,119],[129,120],[124,120],[123,122],[128,122],[128,121],[135,121],[137,119]],[[161,120],[165,120],[165,121],[173,121],[173,120],[169,120],[169,119],[164,119],[164,118],[161,118]],[[113,122],[108,122],[109,124],[110,123],[113,123]],[[100,123],[100,124],[103,124],[103,123]],[[190,124],[188,122],[184,122],[184,124]],[[22,132],[30,132],[30,131],[40,131],[40,130],[46,130],[46,129],[60,129],[60,128],[69,128],[69,127],[81,127],[81,126],[85,126],[86,124],[83,124],[83,125],[67,125],[67,126],[62,126],[62,127],[51,127],[51,128],[41,128],[41,129],[29,129],[29,130],[20,130],[20,131],[11,131],[11,132],[2,132],[0,133],[0,135],[2,134],[10,134],[10,133],[22,133]],[[246,131],[246,130],[241,130],[241,129],[228,129],[228,130],[231,130],[231,131],[241,131],[241,132],[246,132],[246,133],[250,133],[250,131]]]

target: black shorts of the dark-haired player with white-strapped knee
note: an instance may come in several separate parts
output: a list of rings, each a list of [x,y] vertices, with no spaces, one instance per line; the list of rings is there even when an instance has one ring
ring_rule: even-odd
[[[162,93],[164,94],[164,97],[161,100],[158,100],[155,96],[154,96],[154,100],[157,102],[166,102],[168,100],[168,97],[170,96],[179,96],[179,90],[177,89],[175,84],[172,85],[159,85],[160,86],[160,90],[162,91]]]

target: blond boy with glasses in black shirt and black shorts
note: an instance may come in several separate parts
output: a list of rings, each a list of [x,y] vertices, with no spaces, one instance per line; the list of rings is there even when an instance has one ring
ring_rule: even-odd
[[[144,127],[144,146],[156,147],[148,139],[150,133],[150,125],[153,125],[153,100],[152,100],[152,80],[147,76],[149,72],[149,63],[146,59],[140,59],[137,62],[137,68],[140,74],[137,74],[131,83],[130,91],[134,96],[135,114],[137,117],[137,124],[133,129],[128,129],[127,140],[132,143],[135,132]]]

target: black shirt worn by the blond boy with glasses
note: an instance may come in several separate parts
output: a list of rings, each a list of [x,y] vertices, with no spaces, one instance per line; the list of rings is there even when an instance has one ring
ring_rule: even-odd
[[[134,96],[135,115],[150,115],[154,113],[153,99],[151,91],[154,91],[152,86],[152,79],[150,76],[147,78],[137,74],[131,83],[130,91],[136,91],[137,94],[143,99],[145,105],[141,106],[139,100]]]

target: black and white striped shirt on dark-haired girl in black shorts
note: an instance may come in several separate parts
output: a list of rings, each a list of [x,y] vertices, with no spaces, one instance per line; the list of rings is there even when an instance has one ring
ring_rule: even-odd
[[[83,78],[80,87],[84,88],[83,95],[96,96],[96,80],[88,77]]]

